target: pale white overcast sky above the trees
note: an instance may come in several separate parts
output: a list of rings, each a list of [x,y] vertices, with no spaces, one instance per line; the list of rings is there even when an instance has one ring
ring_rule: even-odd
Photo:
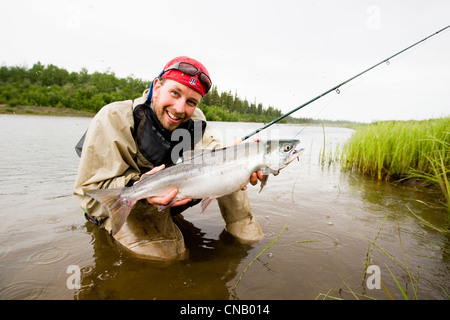
[[[152,80],[201,61],[219,91],[287,112],[450,25],[450,1],[2,1],[0,64]],[[450,115],[450,29],[296,117],[376,121]]]

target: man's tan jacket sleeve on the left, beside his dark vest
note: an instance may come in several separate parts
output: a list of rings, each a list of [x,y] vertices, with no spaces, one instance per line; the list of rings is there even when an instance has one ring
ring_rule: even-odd
[[[107,212],[87,191],[121,188],[139,180],[133,123],[131,101],[116,102],[103,107],[87,130],[74,194],[90,215],[107,216]]]

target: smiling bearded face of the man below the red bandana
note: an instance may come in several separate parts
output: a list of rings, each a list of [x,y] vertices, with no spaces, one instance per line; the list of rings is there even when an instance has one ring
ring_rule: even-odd
[[[161,125],[169,131],[187,122],[201,99],[200,93],[179,82],[155,79],[153,110]]]

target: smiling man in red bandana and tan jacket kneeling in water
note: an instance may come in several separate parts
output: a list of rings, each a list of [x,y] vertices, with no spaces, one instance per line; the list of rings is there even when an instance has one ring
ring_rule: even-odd
[[[203,64],[189,57],[177,57],[166,64],[142,97],[113,102],[97,113],[77,145],[81,159],[74,194],[88,220],[111,232],[107,210],[86,192],[131,186],[147,174],[174,165],[182,156],[174,152],[181,142],[174,139],[173,133],[180,129],[190,138],[182,151],[223,147],[198,108],[210,88],[211,78]],[[253,173],[249,182],[255,185],[261,177],[260,172]],[[199,201],[174,202],[177,192],[173,189],[166,196],[138,201],[113,237],[149,259],[184,259],[183,235],[173,217]],[[263,237],[252,217],[246,190],[217,200],[228,233],[243,243]],[[159,211],[158,205],[170,207]]]

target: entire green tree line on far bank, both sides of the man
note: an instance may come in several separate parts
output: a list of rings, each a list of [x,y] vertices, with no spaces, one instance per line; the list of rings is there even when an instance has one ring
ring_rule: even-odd
[[[151,81],[132,76],[119,78],[113,72],[69,72],[55,65],[35,63],[26,66],[0,67],[0,104],[71,108],[97,112],[113,102],[135,99]],[[213,86],[203,97],[200,108],[210,121],[268,122],[281,111],[262,103],[249,102],[237,93],[219,92]]]

